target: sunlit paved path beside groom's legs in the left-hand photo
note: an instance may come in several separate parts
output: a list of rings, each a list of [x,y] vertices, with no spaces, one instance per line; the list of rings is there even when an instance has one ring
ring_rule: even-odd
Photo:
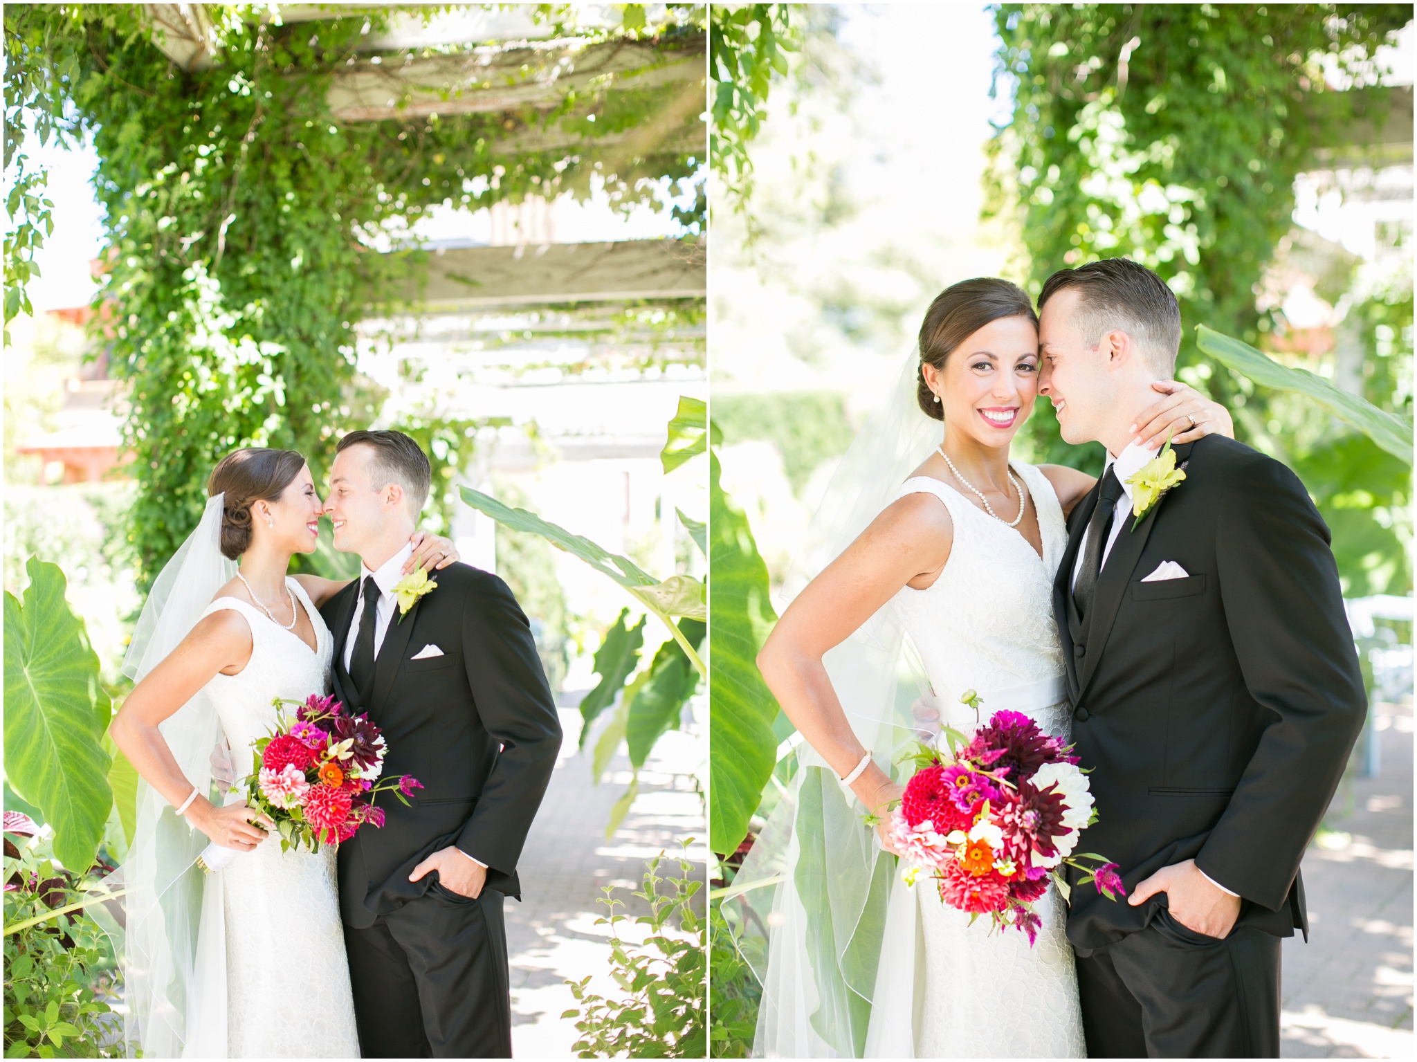
[[[660,739],[640,772],[640,796],[606,840],[611,807],[629,784],[629,762],[616,756],[609,777],[592,786],[589,750],[575,752],[580,712],[563,709],[561,726],[561,759],[517,868],[523,902],[506,903],[512,1049],[519,1058],[575,1056],[578,1034],[571,1020],[561,1018],[575,1005],[567,980],[589,974],[594,991],[619,994],[608,976],[608,927],[595,925],[605,915],[595,902],[604,895],[601,886],[622,886],[616,896],[629,901],[629,889],[642,885],[645,860],[662,850],[677,851],[680,838],[697,838],[691,854],[700,878],[707,860],[703,801],[691,776],[704,756],[700,738],[670,732]],[[643,903],[633,905],[629,913],[642,913]],[[632,932],[625,929],[622,936]]]

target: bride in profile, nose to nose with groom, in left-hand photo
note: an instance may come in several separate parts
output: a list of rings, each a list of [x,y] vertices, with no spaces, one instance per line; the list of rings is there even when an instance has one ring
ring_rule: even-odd
[[[299,453],[237,450],[207,493],[143,606],[123,661],[137,685],[111,728],[142,777],[118,872],[125,1039],[147,1058],[357,1058],[334,848],[282,852],[244,799],[208,799],[249,770],[272,698],[329,692],[319,606],[346,583],[286,573],[323,511]],[[445,538],[412,545],[408,572],[456,559]],[[208,843],[242,855],[203,875]]]

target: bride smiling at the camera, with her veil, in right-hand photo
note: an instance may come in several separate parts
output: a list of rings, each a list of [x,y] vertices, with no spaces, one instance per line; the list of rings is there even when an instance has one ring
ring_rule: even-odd
[[[1036,905],[1030,947],[1023,933],[971,926],[928,878],[907,889],[881,852],[898,855],[886,823],[877,844],[863,826],[863,811],[884,818],[900,799],[903,746],[941,724],[975,725],[959,702],[968,690],[985,716],[1020,711],[1068,736],[1051,588],[1064,520],[1095,480],[1009,459],[1037,394],[1037,317],[1015,285],[964,280],[931,303],[918,351],[843,459],[820,508],[832,527],[815,528],[789,590],[811,582],[758,656],[805,745],[733,888],[740,925],[768,935],[754,1052],[1080,1058],[1056,888]],[[1162,396],[1134,429],[1141,445],[1231,432],[1229,413],[1190,388],[1153,387]],[[910,646],[925,681],[903,708],[913,697],[894,687]]]

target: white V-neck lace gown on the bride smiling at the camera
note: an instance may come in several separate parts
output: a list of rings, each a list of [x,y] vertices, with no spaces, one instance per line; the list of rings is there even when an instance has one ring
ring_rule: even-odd
[[[958,491],[939,480],[914,477],[900,496],[928,493],[939,498],[954,523],[954,545],[930,588],[907,586],[891,605],[920,653],[942,712],[959,718],[959,695],[976,690],[983,718],[1003,708],[1022,711],[1044,732],[1067,738],[1071,718],[1063,702],[1063,656],[1053,619],[1053,573],[1067,530],[1043,473],[1017,462],[1013,469],[1037,508],[1043,556],[1017,530]],[[1037,901],[1036,910],[1043,926],[1030,947],[1017,930],[990,932],[983,919],[971,926],[969,916],[945,906],[925,878],[914,889],[896,889],[887,935],[918,925],[924,943],[924,991],[917,983],[914,1020],[908,1022],[915,1058],[1085,1056],[1073,949],[1064,936],[1067,910],[1056,888]],[[886,966],[897,961],[900,952],[887,947],[886,954],[893,957],[883,957],[877,1000],[890,994],[893,971]],[[880,1049],[890,1032],[879,1029],[873,1015],[869,1054],[874,1054],[870,1045]]]

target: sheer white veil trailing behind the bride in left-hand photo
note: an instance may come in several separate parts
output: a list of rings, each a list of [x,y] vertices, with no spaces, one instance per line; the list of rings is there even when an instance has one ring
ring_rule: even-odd
[[[142,681],[187,637],[217,590],[237,573],[221,555],[222,494],[153,583],[123,657]],[[159,724],[183,775],[213,796],[213,753],[221,742],[205,691]],[[221,803],[218,796],[217,803]],[[125,891],[120,913],[98,908],[115,936],[123,970],[123,1039],[146,1058],[225,1058],[227,984],[221,875],[194,864],[207,838],[179,818],[146,782],[128,858],[106,885]]]

